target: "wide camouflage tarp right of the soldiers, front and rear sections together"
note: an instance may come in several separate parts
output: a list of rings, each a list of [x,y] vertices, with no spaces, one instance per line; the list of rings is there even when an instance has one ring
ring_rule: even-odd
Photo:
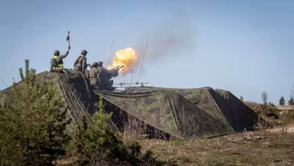
[[[193,125],[183,123],[191,118],[197,124],[197,129],[190,131],[189,135],[199,138],[251,129],[258,119],[249,107],[229,91],[210,87],[139,87],[124,92],[94,92],[145,123],[178,138],[184,135],[185,125]]]

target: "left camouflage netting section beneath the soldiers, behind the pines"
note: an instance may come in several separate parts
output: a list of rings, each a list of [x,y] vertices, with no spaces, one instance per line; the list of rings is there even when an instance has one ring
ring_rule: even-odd
[[[42,72],[36,74],[35,81],[43,84],[53,83],[56,89],[56,97],[64,101],[64,107],[60,109],[67,110],[67,117],[75,120],[78,115],[84,113],[94,113],[94,103],[97,101],[96,95],[90,89],[85,76],[80,72],[58,74],[51,72]],[[21,86],[22,82],[17,83]],[[11,87],[0,91],[0,103],[4,103],[9,97]]]

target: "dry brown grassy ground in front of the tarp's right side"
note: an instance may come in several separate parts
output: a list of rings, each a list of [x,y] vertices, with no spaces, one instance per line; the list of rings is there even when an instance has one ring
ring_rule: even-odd
[[[152,150],[159,160],[176,161],[181,166],[221,165],[294,165],[294,113],[280,117],[280,126],[236,133],[211,139],[144,140],[142,150]],[[272,132],[272,131],[276,132]]]

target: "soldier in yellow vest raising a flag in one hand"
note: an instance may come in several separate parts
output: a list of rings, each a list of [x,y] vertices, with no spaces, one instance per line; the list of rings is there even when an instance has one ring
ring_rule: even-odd
[[[68,45],[67,51],[60,56],[59,50],[55,50],[53,55],[54,58],[51,59],[51,66],[50,66],[50,72],[54,73],[63,73],[63,59],[67,57],[69,53],[70,46]]]

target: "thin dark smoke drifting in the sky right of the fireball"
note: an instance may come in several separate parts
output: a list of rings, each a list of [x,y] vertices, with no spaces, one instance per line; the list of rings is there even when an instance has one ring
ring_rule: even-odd
[[[184,56],[181,54],[183,50],[189,50],[189,55],[191,55],[196,45],[196,30],[187,16],[162,21],[154,29],[145,32],[144,35],[148,37],[145,58],[152,63],[154,60],[165,57],[177,55],[182,57]],[[143,37],[141,43],[144,43]],[[143,45],[138,48],[142,50]],[[189,55],[185,55],[185,57],[189,58]]]

